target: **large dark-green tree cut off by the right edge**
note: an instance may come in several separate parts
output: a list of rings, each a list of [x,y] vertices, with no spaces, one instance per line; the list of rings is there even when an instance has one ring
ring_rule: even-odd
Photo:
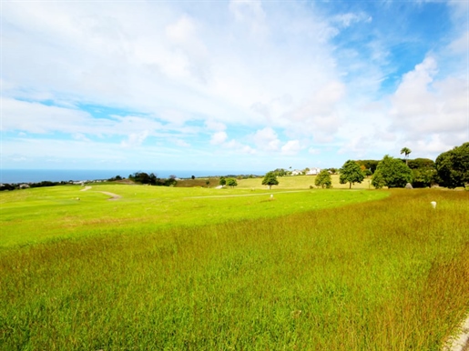
[[[455,188],[469,184],[469,143],[439,155],[435,165],[440,186]]]

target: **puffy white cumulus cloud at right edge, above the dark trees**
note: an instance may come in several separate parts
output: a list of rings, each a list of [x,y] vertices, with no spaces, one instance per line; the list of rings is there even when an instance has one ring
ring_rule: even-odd
[[[437,62],[429,56],[403,76],[391,97],[392,131],[422,143],[437,138],[446,145],[464,142],[469,102],[468,82],[455,77],[435,80]]]

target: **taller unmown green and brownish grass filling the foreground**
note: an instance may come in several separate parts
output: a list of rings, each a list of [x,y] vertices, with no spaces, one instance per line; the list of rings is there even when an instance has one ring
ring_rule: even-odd
[[[396,190],[290,216],[4,250],[0,345],[440,350],[469,310],[467,205],[464,192]]]

